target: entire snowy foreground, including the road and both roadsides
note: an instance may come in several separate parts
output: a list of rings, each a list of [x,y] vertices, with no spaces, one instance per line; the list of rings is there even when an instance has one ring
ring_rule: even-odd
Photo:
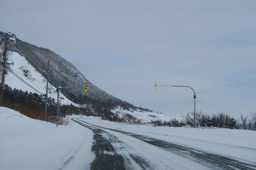
[[[219,159],[239,161],[237,169],[256,167],[255,131],[73,118],[80,125],[70,119],[67,126],[56,127],[0,107],[0,169],[226,169]],[[212,155],[215,162],[204,160]],[[114,163],[118,159],[122,164]]]

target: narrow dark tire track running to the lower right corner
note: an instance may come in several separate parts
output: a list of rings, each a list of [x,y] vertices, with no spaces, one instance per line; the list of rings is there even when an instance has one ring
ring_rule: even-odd
[[[146,143],[149,143],[154,146],[158,146],[160,148],[164,148],[165,150],[168,150],[169,152],[175,153],[176,155],[179,155],[181,157],[186,157],[186,159],[193,160],[199,164],[203,164],[204,166],[207,166],[211,169],[256,169],[255,163],[245,163],[241,162],[239,160],[231,159],[228,157],[224,157],[221,155],[216,155],[212,153],[207,153],[202,150],[196,150],[193,148],[189,148],[187,146],[177,145],[174,143],[161,141],[159,139],[150,138],[147,136],[134,134],[132,132],[125,132],[120,131],[117,129],[111,129],[106,127],[100,127],[97,125],[92,125],[87,122],[84,122],[83,120],[79,120],[87,125],[91,125],[92,127],[99,127],[102,129],[108,129],[110,131],[120,132],[122,134],[126,134],[128,136],[132,136],[137,139],[141,139],[142,141],[145,141]]]

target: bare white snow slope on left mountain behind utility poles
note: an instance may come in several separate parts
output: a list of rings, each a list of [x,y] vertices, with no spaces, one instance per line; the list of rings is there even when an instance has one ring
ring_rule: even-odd
[[[25,57],[19,55],[17,52],[10,52],[10,55],[8,55],[8,62],[13,62],[13,66],[10,66],[13,71],[18,74],[23,80],[27,81],[30,85],[32,85],[36,90],[41,92],[42,94],[45,94],[46,90],[46,80],[42,74],[38,73],[36,69],[29,64],[29,62],[25,59]],[[51,75],[50,75],[51,76]],[[8,84],[10,87],[15,89],[21,89],[23,91],[28,92],[36,92],[34,89],[31,89],[31,87],[28,87],[28,85],[22,83],[18,78],[16,78],[13,74],[8,73],[6,76],[6,84]],[[52,86],[49,83],[49,92],[48,97],[52,97],[54,99],[57,98],[57,92],[56,88]],[[63,94],[60,94],[60,97],[63,97],[61,99],[61,104],[74,104],[72,101],[67,99]]]

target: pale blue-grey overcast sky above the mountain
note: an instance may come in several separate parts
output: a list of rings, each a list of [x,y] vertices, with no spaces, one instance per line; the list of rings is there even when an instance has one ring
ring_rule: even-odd
[[[256,112],[256,1],[1,0],[0,25],[166,115]],[[3,31],[3,30],[2,30]]]

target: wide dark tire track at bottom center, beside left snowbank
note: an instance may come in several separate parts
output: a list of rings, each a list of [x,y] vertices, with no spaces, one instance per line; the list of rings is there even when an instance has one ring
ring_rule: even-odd
[[[154,169],[150,167],[146,160],[130,153],[125,143],[113,134],[109,134],[109,132],[97,127],[83,124],[74,120],[74,118],[72,120],[93,131],[92,151],[95,153],[96,158],[93,160],[90,169]],[[115,143],[117,147],[114,147],[112,143]],[[126,154],[118,154],[116,150],[122,150],[122,153]],[[134,167],[134,163],[138,164],[138,166]]]

